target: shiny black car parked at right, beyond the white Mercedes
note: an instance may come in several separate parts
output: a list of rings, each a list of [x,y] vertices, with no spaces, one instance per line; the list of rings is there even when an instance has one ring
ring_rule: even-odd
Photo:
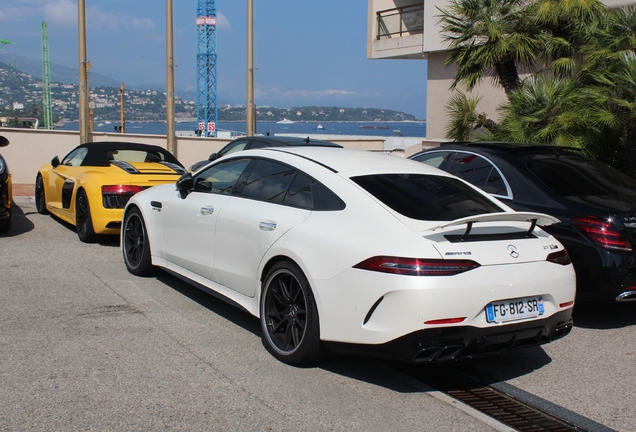
[[[518,211],[569,252],[577,302],[636,300],[636,181],[579,150],[538,144],[443,143],[410,159],[454,174]]]

